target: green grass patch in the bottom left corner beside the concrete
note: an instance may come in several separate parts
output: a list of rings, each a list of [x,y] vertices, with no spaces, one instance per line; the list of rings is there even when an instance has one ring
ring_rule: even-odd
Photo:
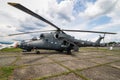
[[[14,66],[6,66],[0,68],[0,80],[8,80],[8,77],[12,74]]]

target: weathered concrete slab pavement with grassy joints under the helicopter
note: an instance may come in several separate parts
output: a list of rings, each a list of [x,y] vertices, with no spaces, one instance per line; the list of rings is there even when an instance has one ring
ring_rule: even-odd
[[[0,53],[4,66],[17,66],[8,80],[120,80],[120,52],[109,50]]]

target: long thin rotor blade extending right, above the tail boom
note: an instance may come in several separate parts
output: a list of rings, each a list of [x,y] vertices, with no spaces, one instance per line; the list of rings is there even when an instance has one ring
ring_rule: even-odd
[[[62,31],[69,31],[69,32],[89,32],[89,33],[102,33],[102,34],[117,34],[117,33],[113,33],[113,32],[87,31],[87,30],[67,30],[67,29],[62,29]]]

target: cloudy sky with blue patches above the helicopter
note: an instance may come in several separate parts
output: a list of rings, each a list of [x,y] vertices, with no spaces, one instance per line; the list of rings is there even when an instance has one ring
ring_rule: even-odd
[[[106,35],[104,42],[120,42],[120,0],[0,0],[0,36],[51,30],[54,27],[24,13],[7,2],[20,3],[43,16],[61,29],[115,32]],[[66,32],[77,39],[95,41],[94,33]],[[39,37],[41,33],[0,37],[0,41],[13,41]]]

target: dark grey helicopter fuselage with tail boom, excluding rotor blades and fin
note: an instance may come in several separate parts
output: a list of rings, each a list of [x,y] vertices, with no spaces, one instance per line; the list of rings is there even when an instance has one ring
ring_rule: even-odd
[[[74,49],[74,47],[86,46],[97,46],[97,44],[90,41],[77,40],[74,37],[62,32],[51,32],[41,34],[39,39],[31,39],[27,42],[22,41],[18,47],[27,51],[31,51],[32,49],[63,51],[67,50],[68,47]]]

